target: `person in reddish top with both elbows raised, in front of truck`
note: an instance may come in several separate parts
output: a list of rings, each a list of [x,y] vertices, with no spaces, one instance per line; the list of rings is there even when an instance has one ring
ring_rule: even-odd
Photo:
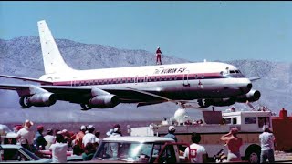
[[[231,128],[229,133],[223,135],[220,139],[223,140],[228,147],[227,161],[241,161],[239,148],[243,145],[243,139],[237,137],[238,129]]]

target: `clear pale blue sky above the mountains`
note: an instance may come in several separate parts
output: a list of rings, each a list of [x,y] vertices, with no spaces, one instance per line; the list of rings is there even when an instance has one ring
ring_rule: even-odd
[[[38,36],[143,49],[191,61],[292,62],[292,2],[0,2],[0,38]]]

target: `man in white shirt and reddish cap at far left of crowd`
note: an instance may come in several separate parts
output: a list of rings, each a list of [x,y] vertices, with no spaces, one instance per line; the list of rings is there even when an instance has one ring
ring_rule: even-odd
[[[16,139],[18,139],[21,146],[30,151],[34,151],[33,143],[35,133],[30,129],[30,127],[33,125],[34,123],[27,119],[24,123],[24,128],[21,128],[16,134]]]

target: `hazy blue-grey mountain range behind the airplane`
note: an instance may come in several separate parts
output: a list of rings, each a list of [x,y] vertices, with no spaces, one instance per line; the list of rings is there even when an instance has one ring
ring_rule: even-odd
[[[67,39],[56,39],[57,46],[68,66],[75,69],[104,67],[133,67],[155,65],[154,52],[145,50],[118,49],[110,46],[83,44]],[[194,62],[169,55],[162,56],[163,64]],[[261,77],[253,82],[262,97],[254,106],[267,106],[278,113],[281,108],[291,111],[291,63],[266,60],[223,61],[238,67],[246,77]],[[44,74],[41,46],[38,36],[21,36],[11,40],[0,39],[0,74],[38,78]],[[1,83],[20,83],[15,79],[0,78]],[[34,84],[34,83],[32,83]],[[21,109],[15,91],[0,90],[1,122],[23,121],[26,118],[43,122],[79,122],[105,120],[162,120],[170,118],[178,108],[172,103],[163,103],[136,108],[135,104],[120,104],[110,109],[81,111],[80,106],[60,102],[46,108]],[[220,110],[226,109],[217,108]],[[235,108],[248,109],[245,104]],[[192,118],[202,118],[202,113],[189,109]]]

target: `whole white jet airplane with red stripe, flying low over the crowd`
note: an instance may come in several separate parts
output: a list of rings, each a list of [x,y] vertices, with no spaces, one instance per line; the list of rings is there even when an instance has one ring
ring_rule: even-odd
[[[77,70],[64,61],[46,21],[38,21],[37,26],[45,74],[38,79],[0,75],[38,83],[0,84],[0,89],[16,90],[21,108],[49,107],[60,100],[80,104],[81,110],[164,102],[182,107],[196,103],[203,109],[254,102],[261,96],[252,89],[251,81],[258,78],[247,78],[235,66],[222,62]]]

